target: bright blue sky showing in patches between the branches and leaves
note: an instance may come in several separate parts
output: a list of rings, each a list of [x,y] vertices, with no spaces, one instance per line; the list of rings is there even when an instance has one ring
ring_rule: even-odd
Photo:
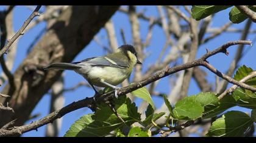
[[[0,10],[2,10],[4,7],[1,6]],[[138,11],[144,10],[144,8],[147,8],[146,10],[146,15],[148,16],[158,16],[157,12],[157,7],[155,6],[139,6]],[[41,10],[44,10],[44,7],[41,8]],[[224,10],[222,12],[219,12],[215,15],[213,18],[213,22],[210,24],[210,27],[219,27],[227,22],[229,22],[229,11],[230,8],[227,10]],[[13,24],[15,31],[17,31],[23,22],[28,18],[30,15],[31,11],[25,7],[25,6],[16,6],[14,8],[14,18],[13,18]],[[116,12],[115,15],[112,17],[112,21],[115,25],[115,30],[116,30],[116,36],[118,39],[118,45],[122,45],[122,39],[120,35],[120,29],[123,28],[126,41],[129,44],[132,44],[132,36],[130,33],[130,24],[129,24],[129,18],[127,15]],[[243,28],[244,24],[246,22],[242,22],[240,24],[233,24],[231,27],[232,28]],[[18,42],[18,51],[17,51],[17,56],[14,64],[14,68],[12,71],[15,71],[15,69],[18,67],[18,65],[23,61],[24,58],[26,58],[26,52],[27,48],[29,45],[32,43],[33,39],[37,34],[46,26],[44,22],[41,24],[38,24],[36,27],[32,28],[32,30],[29,30],[29,32],[25,33],[24,36],[20,39]],[[255,29],[256,26],[254,23],[252,23],[251,30]],[[146,39],[146,33],[148,32],[148,22],[143,21],[140,19],[140,32],[141,32],[141,38],[144,40]],[[154,26],[153,28],[153,35],[152,35],[152,41],[147,48],[148,52],[151,53],[151,55],[146,58],[146,61],[143,62],[143,71],[147,70],[147,67],[149,65],[154,64],[155,59],[158,58],[158,55],[160,54],[160,51],[165,44],[165,35],[163,33],[162,28],[158,27],[157,25]],[[197,52],[197,58],[200,58],[202,55],[205,54],[205,48],[208,50],[214,50],[215,48],[218,48],[222,44],[225,44],[228,41],[236,41],[240,39],[240,33],[224,33],[218,38],[215,38],[211,40],[210,42],[207,42],[207,44],[201,45]],[[249,40],[254,40],[255,34],[249,35],[247,39]],[[107,37],[106,37],[106,32],[104,29],[101,29],[98,33],[98,38],[101,39],[101,42],[104,45],[108,45]],[[248,48],[249,51],[246,53],[246,55],[241,59],[239,62],[240,65],[245,64],[247,67],[251,67],[253,69],[256,69],[255,65],[255,52],[256,52],[256,47],[255,44],[250,46],[245,46],[246,49]],[[171,48],[171,47],[168,47]],[[210,64],[215,66],[218,70],[222,72],[226,72],[227,68],[229,67],[230,62],[233,59],[233,56],[235,55],[237,46],[233,46],[229,48],[229,56],[226,56],[224,54],[218,54],[215,55],[211,58],[208,59]],[[87,45],[87,48],[85,48],[82,52],[79,53],[79,55],[76,56],[74,61],[79,61],[81,59],[85,58],[90,58],[92,56],[101,56],[105,55],[106,52],[98,45],[96,42],[91,41],[89,45]],[[204,68],[205,69],[205,68]],[[210,82],[215,81],[215,75],[213,73],[210,73],[207,69],[207,79]],[[80,81],[85,81],[82,76],[78,75],[77,73],[74,73],[74,71],[65,71],[63,73],[65,75],[65,87],[73,87]],[[4,87],[4,86],[2,86]],[[159,82],[157,86],[157,90],[161,91],[163,93],[169,93],[171,91],[171,87],[169,86],[168,78],[163,78]],[[190,88],[188,91],[188,95],[194,95],[199,93],[199,88],[196,85],[196,82],[194,80],[191,80]],[[84,99],[87,96],[92,96],[94,94],[94,91],[91,88],[87,87],[80,87],[77,88],[76,91],[72,92],[66,92],[64,94],[65,96],[65,105],[70,104],[73,101],[78,101],[80,99]],[[156,107],[160,107],[163,104],[163,99],[159,97],[152,97],[154,99],[154,104]],[[40,113],[40,117],[33,119],[33,121],[36,121],[37,119],[43,118],[44,116],[48,115],[49,113],[49,102],[50,102],[50,96],[45,95],[41,101],[38,103],[37,107],[35,107],[34,111],[32,111],[32,115],[35,113]],[[137,99],[136,101],[137,105],[140,105],[139,103],[141,102],[140,99]],[[247,110],[246,108],[241,108],[241,107],[233,107],[232,110],[242,110],[242,111],[250,111]],[[63,122],[62,122],[62,128],[60,130],[59,136],[65,135],[65,132],[68,130],[68,128],[73,124],[74,121],[80,118],[80,116],[91,113],[90,109],[88,108],[82,108],[80,110],[73,111],[71,113],[68,113],[63,117]],[[29,124],[31,121],[27,121],[26,124]],[[38,128],[38,131],[29,131],[28,133],[24,133],[23,136],[44,136],[46,130],[46,126]]]

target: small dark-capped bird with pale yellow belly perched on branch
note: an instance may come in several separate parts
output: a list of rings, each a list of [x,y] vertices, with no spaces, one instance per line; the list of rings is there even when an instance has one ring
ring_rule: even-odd
[[[96,94],[99,93],[94,85],[114,88],[117,97],[116,85],[121,84],[130,75],[135,64],[141,64],[135,48],[132,45],[121,45],[115,53],[78,62],[57,62],[44,67],[44,70],[74,70],[87,79]]]

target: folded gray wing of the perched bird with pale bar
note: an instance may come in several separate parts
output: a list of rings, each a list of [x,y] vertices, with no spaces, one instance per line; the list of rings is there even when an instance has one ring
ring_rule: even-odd
[[[118,60],[118,58],[108,58],[105,56],[99,56],[99,57],[93,57],[84,59],[82,61],[78,62],[72,62],[73,64],[90,64],[91,66],[104,66],[104,67],[117,67],[117,68],[127,68],[129,65],[127,65],[125,62]]]

